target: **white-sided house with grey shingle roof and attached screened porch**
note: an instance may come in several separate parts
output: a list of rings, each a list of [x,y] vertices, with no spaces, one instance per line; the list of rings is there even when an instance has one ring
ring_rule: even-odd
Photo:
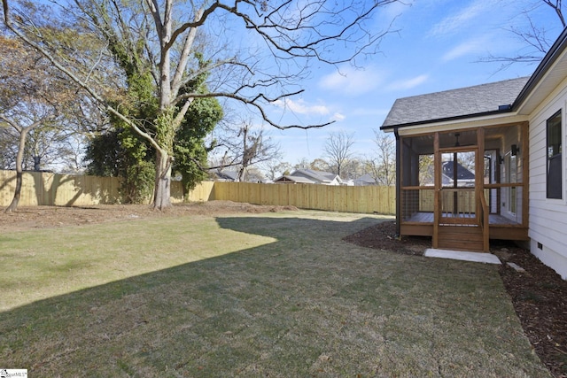
[[[472,251],[523,241],[567,279],[566,108],[567,29],[530,77],[396,100],[381,129],[396,137],[399,234]],[[465,160],[474,177],[444,170]]]

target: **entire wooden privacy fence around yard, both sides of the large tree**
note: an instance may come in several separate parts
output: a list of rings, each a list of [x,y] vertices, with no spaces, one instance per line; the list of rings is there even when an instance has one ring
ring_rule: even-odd
[[[8,206],[16,184],[14,171],[0,170],[0,206]],[[332,212],[395,213],[393,187],[338,187],[311,184],[257,184],[203,181],[183,197],[180,181],[171,183],[174,203],[211,200],[293,205]],[[25,172],[19,205],[88,206],[120,204],[120,178]]]

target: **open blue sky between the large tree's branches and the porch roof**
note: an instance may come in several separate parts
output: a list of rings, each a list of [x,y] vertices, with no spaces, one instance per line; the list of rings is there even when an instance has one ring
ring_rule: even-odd
[[[541,0],[422,0],[388,6],[377,22],[395,20],[380,44],[381,53],[363,62],[363,70],[321,66],[306,91],[287,102],[283,123],[312,124],[328,120],[328,127],[309,130],[269,129],[280,143],[283,161],[323,157],[322,146],[331,132],[354,133],[353,151],[372,155],[373,129],[382,125],[396,98],[457,89],[485,82],[531,75],[536,65],[514,65],[499,71],[500,63],[478,63],[489,54],[511,56],[525,48],[505,28],[522,27],[523,12],[537,25],[547,25],[555,40],[561,24]]]

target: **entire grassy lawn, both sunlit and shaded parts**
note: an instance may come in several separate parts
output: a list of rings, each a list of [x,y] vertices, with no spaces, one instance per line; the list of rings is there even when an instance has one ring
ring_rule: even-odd
[[[30,376],[548,376],[495,266],[284,212],[0,236],[0,367]]]

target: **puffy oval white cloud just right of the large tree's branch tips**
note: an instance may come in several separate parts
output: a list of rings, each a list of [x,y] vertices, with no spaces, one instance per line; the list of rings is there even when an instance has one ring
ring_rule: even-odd
[[[381,76],[374,69],[356,70],[353,67],[346,67],[323,76],[319,81],[319,86],[322,89],[357,96],[376,89],[383,81]]]

